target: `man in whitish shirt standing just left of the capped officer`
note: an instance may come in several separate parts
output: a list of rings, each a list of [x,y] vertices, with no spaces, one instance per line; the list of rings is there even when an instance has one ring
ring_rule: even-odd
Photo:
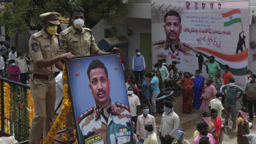
[[[20,68],[20,82],[27,84],[27,72],[29,69],[27,68],[27,61],[23,55],[23,53],[18,53],[18,58],[16,59],[16,66]]]

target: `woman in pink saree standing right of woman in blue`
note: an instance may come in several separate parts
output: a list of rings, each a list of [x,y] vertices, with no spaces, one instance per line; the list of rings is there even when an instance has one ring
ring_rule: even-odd
[[[203,93],[201,96],[202,104],[199,109],[199,111],[201,111],[201,113],[210,112],[209,104],[210,104],[210,101],[215,98],[216,92],[217,91],[216,91],[215,87],[212,85],[212,80],[207,80],[206,86],[204,87]]]

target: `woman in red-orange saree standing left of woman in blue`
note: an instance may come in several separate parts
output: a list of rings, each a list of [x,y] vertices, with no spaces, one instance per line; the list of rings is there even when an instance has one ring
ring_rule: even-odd
[[[182,88],[182,112],[191,113],[192,112],[192,100],[194,99],[193,90],[194,87],[193,80],[190,78],[189,72],[184,73],[184,78],[177,81],[177,85]]]

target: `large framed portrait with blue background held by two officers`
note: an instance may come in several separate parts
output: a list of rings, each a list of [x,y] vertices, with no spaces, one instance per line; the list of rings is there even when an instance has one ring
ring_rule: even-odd
[[[66,67],[79,143],[132,141],[120,55],[77,57]]]

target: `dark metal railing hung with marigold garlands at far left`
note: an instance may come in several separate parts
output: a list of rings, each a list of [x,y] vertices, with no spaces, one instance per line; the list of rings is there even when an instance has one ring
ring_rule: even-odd
[[[5,117],[4,85],[10,85],[10,118]],[[25,140],[29,137],[29,114],[28,114],[28,85],[0,78],[1,90],[1,131],[5,132],[6,126],[10,126],[10,135],[14,135],[18,140]],[[8,119],[8,121],[6,121]],[[6,123],[8,122],[8,124]],[[7,132],[5,132],[7,133]]]

